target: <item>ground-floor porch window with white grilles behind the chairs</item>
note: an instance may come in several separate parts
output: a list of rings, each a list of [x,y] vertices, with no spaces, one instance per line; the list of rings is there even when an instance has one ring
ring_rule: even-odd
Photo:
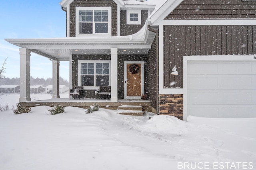
[[[79,61],[80,86],[110,86],[110,61]]]

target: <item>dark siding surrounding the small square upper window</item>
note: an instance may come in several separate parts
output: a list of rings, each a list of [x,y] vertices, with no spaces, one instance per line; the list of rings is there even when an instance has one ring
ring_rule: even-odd
[[[141,11],[141,24],[140,25],[127,25],[126,24],[126,11],[120,11],[120,31],[121,36],[132,35],[138,32],[148,19],[148,11]]]

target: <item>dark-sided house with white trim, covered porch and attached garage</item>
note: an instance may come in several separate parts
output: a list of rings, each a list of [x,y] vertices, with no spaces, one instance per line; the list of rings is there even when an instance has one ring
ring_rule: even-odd
[[[187,119],[256,117],[255,0],[62,0],[67,37],[6,39],[21,47],[20,101],[30,100],[30,52],[70,61],[70,88],[110,102],[147,94],[155,111]],[[22,77],[23,76],[23,77]]]

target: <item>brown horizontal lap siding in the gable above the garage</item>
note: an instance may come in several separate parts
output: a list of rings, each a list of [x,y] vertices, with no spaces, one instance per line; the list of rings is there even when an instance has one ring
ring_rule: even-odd
[[[165,19],[256,18],[256,1],[184,0]]]

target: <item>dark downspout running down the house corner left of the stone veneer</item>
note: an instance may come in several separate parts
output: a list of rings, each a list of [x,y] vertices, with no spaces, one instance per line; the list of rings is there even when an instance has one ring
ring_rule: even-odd
[[[159,32],[148,25],[148,31],[156,33],[156,112],[159,114]]]

